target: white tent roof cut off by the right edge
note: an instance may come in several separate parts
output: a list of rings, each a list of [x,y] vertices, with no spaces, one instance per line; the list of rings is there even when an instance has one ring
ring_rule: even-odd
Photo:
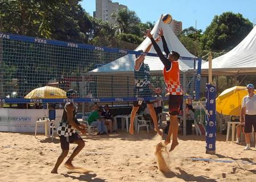
[[[202,72],[208,72],[208,62],[202,64]],[[255,73],[256,72],[256,27],[225,55],[212,60],[214,73]]]

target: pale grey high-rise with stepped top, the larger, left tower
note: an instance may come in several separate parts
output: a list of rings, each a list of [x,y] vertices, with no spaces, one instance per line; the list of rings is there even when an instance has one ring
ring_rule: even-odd
[[[115,20],[111,17],[111,14],[122,8],[127,9],[127,6],[119,5],[118,2],[112,2],[110,0],[96,0],[96,12],[94,17],[102,19],[104,22],[114,23]]]

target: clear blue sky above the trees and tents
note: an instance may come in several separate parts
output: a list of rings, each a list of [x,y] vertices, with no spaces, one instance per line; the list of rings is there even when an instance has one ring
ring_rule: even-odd
[[[96,10],[96,0],[82,0],[81,5],[90,15]],[[256,0],[112,0],[126,5],[137,13],[142,22],[156,22],[161,14],[171,14],[183,23],[183,28],[194,26],[205,30],[214,15],[226,11],[241,13],[256,23]]]

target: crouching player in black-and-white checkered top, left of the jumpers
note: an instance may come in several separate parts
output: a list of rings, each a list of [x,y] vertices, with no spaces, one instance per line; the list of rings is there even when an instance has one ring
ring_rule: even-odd
[[[68,98],[74,98],[76,95],[75,90],[70,89],[67,92]],[[76,143],[78,146],[75,148],[71,156],[68,158],[67,162],[65,162],[65,167],[68,169],[74,169],[75,167],[72,165],[72,160],[75,158],[77,154],[84,148],[85,143],[84,140],[80,137],[79,134],[76,133],[76,130],[79,130],[82,134],[85,133],[85,126],[80,125],[80,123],[76,119],[77,113],[77,105],[73,102],[67,102],[64,107],[63,117],[60,122],[60,126],[58,127],[58,134],[60,137],[60,146],[62,152],[57,159],[57,162],[52,169],[52,173],[57,173],[57,169],[60,164],[63,162],[65,157],[68,155],[69,151],[69,143]]]

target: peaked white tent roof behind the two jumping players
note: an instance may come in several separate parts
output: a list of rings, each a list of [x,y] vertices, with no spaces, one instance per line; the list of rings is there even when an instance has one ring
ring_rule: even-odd
[[[163,28],[164,31],[164,37],[167,42],[167,46],[170,50],[174,50],[180,53],[183,57],[195,57],[191,53],[188,52],[188,50],[181,44],[180,40],[176,37],[174,32],[172,31],[172,28],[170,24],[164,24],[162,19],[162,15],[160,16],[158,22],[156,22],[154,28],[151,31],[151,34],[154,36],[154,38],[158,37],[158,29],[160,27]],[[145,50],[147,46],[151,43],[151,40],[146,38],[136,49],[135,51]],[[159,47],[163,51],[163,44],[162,41],[159,43]],[[156,53],[154,47],[151,47],[150,53]],[[90,73],[106,73],[106,72],[133,72],[134,71],[134,61],[135,61],[135,55],[125,55],[117,60],[112,61],[109,64],[103,65],[100,68],[96,68],[93,71],[90,71]],[[203,63],[204,61],[202,61]],[[164,65],[160,61],[159,57],[153,57],[153,56],[146,56],[144,59],[144,63],[148,64],[150,67],[150,72],[159,72],[163,71]],[[191,60],[179,60],[179,66],[181,71],[187,71],[188,69],[191,69],[193,67],[193,62]]]

